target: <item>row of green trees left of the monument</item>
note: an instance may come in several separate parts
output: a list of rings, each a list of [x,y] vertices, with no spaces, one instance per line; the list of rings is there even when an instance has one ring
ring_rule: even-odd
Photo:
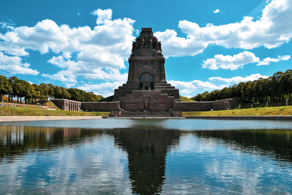
[[[8,79],[0,75],[0,101],[3,96],[8,96],[8,102],[17,98],[21,103],[22,98],[26,103],[36,103],[49,98],[70,99],[74,101],[98,101],[103,99],[101,95],[95,95],[93,92],[86,92],[81,89],[59,87],[53,84],[30,84],[25,80],[18,79],[15,76]]]

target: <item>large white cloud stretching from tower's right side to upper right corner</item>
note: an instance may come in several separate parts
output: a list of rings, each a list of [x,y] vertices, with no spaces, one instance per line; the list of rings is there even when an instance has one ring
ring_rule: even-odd
[[[253,49],[260,46],[275,48],[292,37],[292,1],[272,0],[265,6],[259,19],[246,16],[237,23],[207,24],[200,27],[187,20],[178,27],[187,38],[178,37],[174,30],[156,32],[163,45],[164,56],[194,56],[210,44],[226,48]]]

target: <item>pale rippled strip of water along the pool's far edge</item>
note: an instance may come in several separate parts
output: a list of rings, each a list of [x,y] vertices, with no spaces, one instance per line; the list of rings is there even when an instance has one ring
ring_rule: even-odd
[[[160,127],[176,130],[239,130],[239,129],[291,129],[292,121],[278,120],[204,120],[204,119],[88,119],[78,120],[54,120],[48,121],[13,121],[1,122],[1,126],[20,125],[38,127],[75,127],[98,128],[109,130],[112,128],[131,127]]]

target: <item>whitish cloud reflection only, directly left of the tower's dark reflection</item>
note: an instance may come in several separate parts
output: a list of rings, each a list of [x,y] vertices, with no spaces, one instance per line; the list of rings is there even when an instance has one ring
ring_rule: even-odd
[[[63,151],[64,156],[60,157],[60,163],[56,165],[58,168],[52,168],[49,174],[52,177],[61,177],[65,191],[70,193],[94,192],[99,187],[105,191],[130,193],[131,186],[128,175],[125,174],[127,156],[114,146],[113,137],[101,135],[95,138],[91,144],[79,146],[78,150],[69,153]],[[69,157],[66,158],[67,155]],[[62,174],[58,176],[59,172]],[[70,189],[66,189],[66,186]],[[79,189],[74,189],[77,186]],[[52,189],[55,187],[60,187],[60,184],[55,184]]]

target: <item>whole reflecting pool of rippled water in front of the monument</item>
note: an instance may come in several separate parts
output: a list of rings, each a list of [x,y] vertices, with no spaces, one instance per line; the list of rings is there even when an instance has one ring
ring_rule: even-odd
[[[0,122],[0,194],[292,194],[292,122]]]

